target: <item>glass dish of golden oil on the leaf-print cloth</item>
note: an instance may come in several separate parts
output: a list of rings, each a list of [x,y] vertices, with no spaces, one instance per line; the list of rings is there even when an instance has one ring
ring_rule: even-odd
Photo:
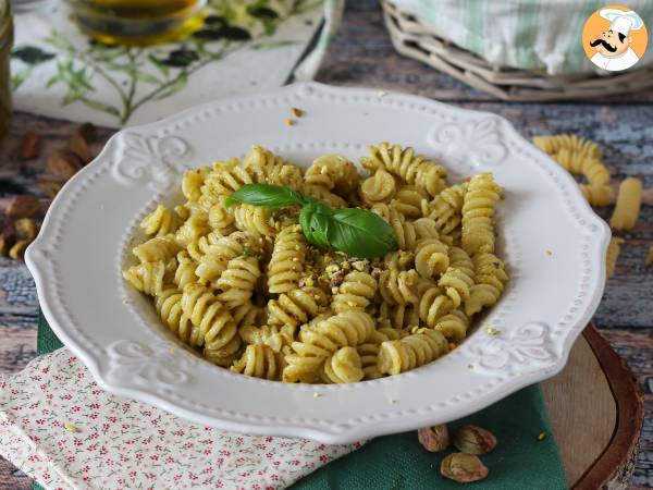
[[[178,40],[201,26],[207,0],[69,0],[88,36],[107,45],[146,46]]]

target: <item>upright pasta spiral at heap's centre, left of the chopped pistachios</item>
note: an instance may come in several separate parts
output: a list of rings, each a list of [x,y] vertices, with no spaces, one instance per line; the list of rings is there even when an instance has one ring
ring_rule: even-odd
[[[298,224],[284,228],[274,242],[268,266],[268,290],[270,293],[287,293],[297,289],[304,260],[306,241]]]

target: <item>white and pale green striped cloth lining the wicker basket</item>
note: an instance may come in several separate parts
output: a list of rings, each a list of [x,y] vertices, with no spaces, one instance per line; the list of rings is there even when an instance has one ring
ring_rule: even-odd
[[[392,0],[429,32],[488,62],[549,75],[591,73],[582,30],[587,20],[611,3],[631,7],[653,25],[653,1],[605,0]],[[606,21],[607,22],[607,21]],[[597,34],[597,33],[595,33]],[[651,51],[651,49],[649,49]],[[651,56],[645,62],[651,62]]]

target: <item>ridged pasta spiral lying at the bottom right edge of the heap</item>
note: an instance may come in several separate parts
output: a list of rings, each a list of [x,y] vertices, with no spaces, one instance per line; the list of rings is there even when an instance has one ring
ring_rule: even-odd
[[[377,368],[382,373],[398,375],[435,360],[446,354],[448,344],[436,330],[420,329],[401,340],[381,344]]]

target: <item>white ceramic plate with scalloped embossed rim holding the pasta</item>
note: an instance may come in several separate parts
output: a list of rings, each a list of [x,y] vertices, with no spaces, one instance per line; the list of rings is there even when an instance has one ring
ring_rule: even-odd
[[[288,127],[291,107],[306,115]],[[506,188],[498,243],[510,282],[482,319],[498,335],[477,328],[451,354],[401,376],[288,385],[202,360],[123,282],[130,237],[174,195],[184,169],[244,156],[252,143],[304,166],[325,152],[358,161],[382,140],[442,160],[454,177],[492,171]],[[50,326],[108,391],[227,430],[344,443],[456,419],[558,372],[601,298],[608,237],[571,177],[507,121],[303,84],[118,133],[54,199],[26,261]]]

